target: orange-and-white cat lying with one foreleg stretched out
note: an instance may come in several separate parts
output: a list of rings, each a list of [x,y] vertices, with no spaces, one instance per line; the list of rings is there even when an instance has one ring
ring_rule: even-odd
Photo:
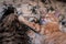
[[[29,31],[28,34],[32,37],[32,44],[66,44],[66,33],[61,32],[58,16],[55,12],[50,12],[44,15],[44,25],[40,25],[34,22],[24,20],[23,16],[19,16],[19,21],[32,28],[34,31]]]

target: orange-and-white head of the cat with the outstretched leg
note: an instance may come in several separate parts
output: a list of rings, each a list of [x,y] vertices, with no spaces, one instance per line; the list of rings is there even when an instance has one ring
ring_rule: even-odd
[[[42,16],[42,20],[45,24],[50,22],[58,23],[59,21],[58,16],[59,16],[58,12],[52,11],[52,12],[48,12],[47,14],[44,14]]]

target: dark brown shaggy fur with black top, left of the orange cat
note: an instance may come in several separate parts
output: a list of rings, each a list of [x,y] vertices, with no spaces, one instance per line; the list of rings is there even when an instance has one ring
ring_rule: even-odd
[[[13,9],[8,9],[0,22],[0,44],[30,44],[26,28],[18,21]]]

